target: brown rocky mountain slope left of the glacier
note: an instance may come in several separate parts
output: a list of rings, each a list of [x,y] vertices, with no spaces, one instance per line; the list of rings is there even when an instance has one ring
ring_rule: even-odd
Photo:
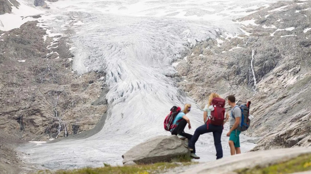
[[[0,37],[0,130],[46,141],[94,128],[106,112],[104,72],[77,76],[66,38],[27,22]],[[95,102],[94,104],[92,104]]]

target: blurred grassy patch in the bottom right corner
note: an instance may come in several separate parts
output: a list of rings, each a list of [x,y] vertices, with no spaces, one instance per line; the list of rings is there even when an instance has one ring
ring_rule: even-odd
[[[274,164],[265,168],[240,169],[238,174],[287,174],[311,170],[311,154],[298,156],[286,162]]]

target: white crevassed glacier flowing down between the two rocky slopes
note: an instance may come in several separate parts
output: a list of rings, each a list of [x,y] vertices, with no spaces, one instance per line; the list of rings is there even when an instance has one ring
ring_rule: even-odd
[[[122,164],[121,155],[132,146],[169,135],[163,120],[173,105],[185,103],[192,105],[187,115],[193,129],[186,132],[193,134],[203,124],[203,111],[166,76],[176,73],[172,62],[183,59],[197,41],[216,39],[221,33],[241,33],[232,19],[273,2],[276,0],[60,0],[47,2],[49,10],[33,7],[37,14],[43,13],[39,26],[48,26],[50,36],[61,33],[72,41],[75,72],[107,72],[103,85],[109,86],[109,107],[103,128],[95,135],[22,145],[18,150],[30,154],[24,161],[39,169]],[[10,15],[14,13],[18,14],[15,10]],[[0,21],[3,19],[0,15]],[[2,24],[6,30],[18,27]],[[225,125],[221,139],[224,156],[230,155],[228,129]],[[241,136],[242,152],[254,146],[249,137]],[[196,149],[199,161],[216,159],[212,134],[202,135]]]

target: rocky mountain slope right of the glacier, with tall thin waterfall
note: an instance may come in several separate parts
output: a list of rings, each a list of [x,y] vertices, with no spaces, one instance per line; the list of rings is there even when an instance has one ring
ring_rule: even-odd
[[[310,8],[310,1],[278,2],[234,20],[242,34],[221,33],[177,60],[179,88],[202,107],[211,92],[252,101],[246,134],[260,137],[253,150],[309,146]]]

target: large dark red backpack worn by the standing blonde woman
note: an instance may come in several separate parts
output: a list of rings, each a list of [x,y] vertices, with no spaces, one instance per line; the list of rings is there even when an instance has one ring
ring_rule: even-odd
[[[214,110],[211,111],[211,118],[208,119],[207,123],[222,126],[225,120],[225,99],[213,98],[211,106],[214,107]]]

